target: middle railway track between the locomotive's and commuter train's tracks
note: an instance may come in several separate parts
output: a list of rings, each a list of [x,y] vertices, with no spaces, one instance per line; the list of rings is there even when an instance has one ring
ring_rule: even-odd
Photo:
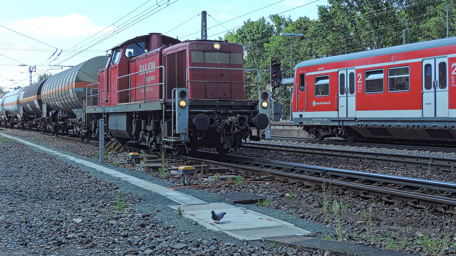
[[[456,159],[444,157],[428,157],[409,154],[392,154],[381,152],[368,152],[332,148],[314,148],[302,146],[290,146],[269,143],[246,143],[244,148],[269,150],[273,152],[296,154],[301,156],[329,157],[337,159],[350,159],[356,161],[375,162],[383,164],[405,164],[407,166],[420,166],[424,168],[436,168],[443,171],[454,171]]]

